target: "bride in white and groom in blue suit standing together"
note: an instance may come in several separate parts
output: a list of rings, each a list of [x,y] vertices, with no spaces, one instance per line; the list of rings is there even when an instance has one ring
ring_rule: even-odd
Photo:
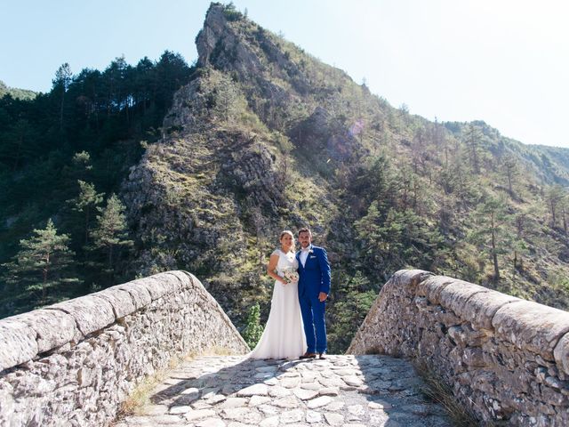
[[[312,233],[298,233],[301,250],[294,254],[293,232],[284,230],[268,262],[275,279],[267,325],[252,359],[325,359],[325,301],[330,293],[330,263]],[[298,272],[298,273],[297,273]]]

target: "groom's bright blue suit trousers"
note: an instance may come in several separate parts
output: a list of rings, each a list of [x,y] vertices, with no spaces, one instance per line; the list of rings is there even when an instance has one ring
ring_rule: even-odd
[[[320,302],[318,296],[299,295],[302,323],[306,334],[307,352],[324,353],[326,344],[326,324],[324,319],[326,302]]]

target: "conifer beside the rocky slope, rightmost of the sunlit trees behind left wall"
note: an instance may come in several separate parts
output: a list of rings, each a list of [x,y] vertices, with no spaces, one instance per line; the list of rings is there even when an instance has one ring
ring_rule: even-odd
[[[122,247],[132,246],[128,239],[124,205],[115,194],[108,197],[107,205],[98,208],[97,226],[91,231],[92,250],[105,254],[105,270],[112,280],[115,272],[115,260]]]

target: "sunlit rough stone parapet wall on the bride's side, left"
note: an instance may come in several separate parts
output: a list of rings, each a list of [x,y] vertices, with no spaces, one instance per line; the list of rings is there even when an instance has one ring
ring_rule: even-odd
[[[0,320],[0,425],[107,425],[190,352],[248,351],[193,275],[169,271]]]

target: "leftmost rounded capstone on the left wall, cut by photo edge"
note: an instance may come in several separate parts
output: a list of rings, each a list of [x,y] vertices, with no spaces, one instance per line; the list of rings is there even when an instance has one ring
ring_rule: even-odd
[[[10,318],[0,321],[0,372],[33,359],[37,354],[36,332]]]

